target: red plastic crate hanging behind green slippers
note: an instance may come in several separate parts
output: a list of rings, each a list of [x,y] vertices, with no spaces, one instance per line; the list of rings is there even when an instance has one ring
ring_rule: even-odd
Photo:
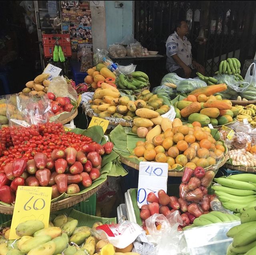
[[[65,57],[72,56],[69,34],[43,34],[42,36],[44,57],[53,57],[56,43],[61,46]]]

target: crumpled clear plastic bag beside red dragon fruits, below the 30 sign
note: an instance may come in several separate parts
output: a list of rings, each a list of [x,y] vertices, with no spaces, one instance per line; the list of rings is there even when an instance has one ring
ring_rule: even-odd
[[[48,92],[54,93],[56,97],[69,97],[73,101],[77,101],[76,90],[66,82],[63,76],[58,76],[52,79],[48,87]]]

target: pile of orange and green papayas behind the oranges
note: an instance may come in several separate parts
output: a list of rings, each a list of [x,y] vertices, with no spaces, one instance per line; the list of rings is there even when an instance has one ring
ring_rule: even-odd
[[[188,123],[198,121],[202,126],[210,123],[213,126],[220,126],[234,121],[233,117],[238,115],[238,109],[232,107],[231,101],[222,100],[219,95],[212,95],[226,88],[225,84],[219,84],[192,91],[188,97],[174,105],[176,118]]]

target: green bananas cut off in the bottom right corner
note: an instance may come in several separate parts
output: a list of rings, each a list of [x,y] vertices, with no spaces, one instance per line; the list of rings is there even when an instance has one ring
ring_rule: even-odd
[[[256,209],[248,208],[241,214],[241,224],[232,227],[227,236],[233,241],[229,245],[227,255],[256,254]]]

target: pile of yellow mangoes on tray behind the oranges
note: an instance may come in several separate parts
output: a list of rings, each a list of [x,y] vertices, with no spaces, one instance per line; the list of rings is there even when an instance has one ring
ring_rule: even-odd
[[[154,123],[151,118],[159,117],[169,111],[168,105],[163,105],[163,99],[150,93],[142,91],[139,99],[131,101],[129,97],[120,97],[118,89],[102,83],[101,88],[96,89],[91,108],[100,118],[114,117],[133,121],[137,127],[152,127]]]

